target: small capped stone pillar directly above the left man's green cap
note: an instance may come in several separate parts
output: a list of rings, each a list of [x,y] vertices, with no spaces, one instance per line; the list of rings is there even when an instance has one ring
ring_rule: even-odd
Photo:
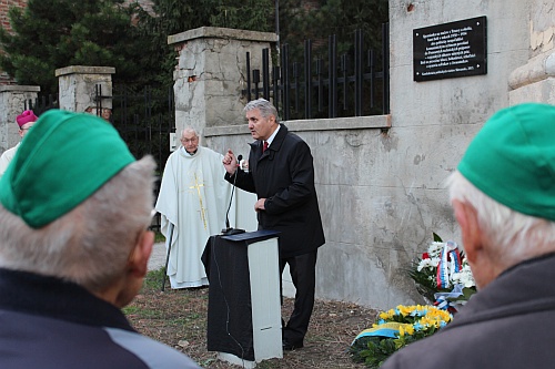
[[[100,115],[95,107],[112,110],[112,66],[71,65],[56,70],[60,109],[70,112],[91,112]],[[97,85],[101,88],[101,99],[97,101]]]

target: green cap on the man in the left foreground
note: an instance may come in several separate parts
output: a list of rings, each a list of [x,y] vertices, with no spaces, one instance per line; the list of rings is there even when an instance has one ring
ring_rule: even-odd
[[[72,211],[132,162],[109,122],[50,110],[24,136],[0,178],[0,203],[40,228]]]

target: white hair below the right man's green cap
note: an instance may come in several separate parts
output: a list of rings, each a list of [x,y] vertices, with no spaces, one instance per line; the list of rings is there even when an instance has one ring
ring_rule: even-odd
[[[451,201],[474,207],[481,230],[491,240],[500,265],[513,266],[555,250],[555,223],[515,212],[485,195],[460,172],[447,178]],[[464,246],[464,245],[463,245]]]

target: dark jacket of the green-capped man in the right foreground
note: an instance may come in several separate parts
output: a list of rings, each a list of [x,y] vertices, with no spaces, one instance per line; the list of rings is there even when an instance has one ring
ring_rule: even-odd
[[[553,368],[554,280],[554,254],[506,270],[445,328],[401,349],[382,368]]]

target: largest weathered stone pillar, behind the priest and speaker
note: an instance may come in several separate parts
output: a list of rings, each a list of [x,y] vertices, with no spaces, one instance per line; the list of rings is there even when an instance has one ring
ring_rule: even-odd
[[[204,137],[205,127],[244,124],[241,95],[246,81],[246,52],[251,65],[262,65],[262,50],[278,42],[278,35],[202,27],[168,37],[179,52],[173,72],[175,132],[193,126]],[[271,58],[270,58],[271,59]]]

